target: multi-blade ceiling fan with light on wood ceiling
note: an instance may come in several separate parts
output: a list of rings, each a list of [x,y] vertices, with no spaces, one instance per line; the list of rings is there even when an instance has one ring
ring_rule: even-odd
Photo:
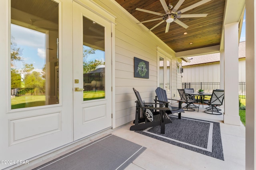
[[[190,5],[182,10],[178,9],[180,8],[180,6],[182,5],[182,3],[185,0],[179,0],[178,3],[176,4],[176,6],[174,6],[174,8],[172,9],[172,5],[169,4],[169,6],[167,6],[165,0],[160,0],[163,8],[164,8],[164,12],[165,14],[161,14],[158,12],[154,12],[154,11],[149,11],[149,10],[144,10],[144,9],[140,9],[140,8],[136,8],[136,10],[138,11],[142,11],[142,12],[147,12],[150,14],[155,14],[158,16],[162,16],[161,18],[156,18],[156,19],[152,19],[152,20],[146,20],[146,21],[142,21],[139,23],[145,23],[145,22],[150,22],[150,21],[156,21],[156,20],[162,20],[160,23],[156,24],[154,27],[152,27],[151,29],[149,29],[148,31],[151,31],[152,29],[156,28],[158,25],[160,25],[163,22],[166,22],[166,29],[165,29],[165,33],[167,33],[169,31],[170,28],[170,23],[175,22],[178,23],[180,26],[184,27],[184,28],[188,28],[188,25],[186,25],[185,23],[183,23],[182,21],[178,20],[178,18],[194,18],[194,17],[206,17],[208,14],[182,14],[188,10],[191,10],[193,8],[196,8],[202,4],[205,4],[206,2],[209,2],[211,0],[201,0],[200,2],[197,2],[193,5]]]

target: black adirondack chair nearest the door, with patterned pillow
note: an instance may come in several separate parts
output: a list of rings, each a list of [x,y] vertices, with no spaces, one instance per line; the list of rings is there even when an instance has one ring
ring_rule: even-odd
[[[146,107],[145,105],[152,105],[154,106],[156,103],[143,103],[140,97],[140,93],[135,90],[134,93],[138,100],[136,100],[136,113],[135,113],[135,120],[134,125],[130,127],[131,131],[137,131],[146,129],[148,127],[154,127],[160,125],[161,133],[165,133],[165,124],[172,123],[170,117],[168,116],[166,111],[169,108],[166,107]],[[158,111],[152,113],[151,116],[148,116],[148,110],[151,111]],[[142,117],[140,117],[140,111],[142,111]]]

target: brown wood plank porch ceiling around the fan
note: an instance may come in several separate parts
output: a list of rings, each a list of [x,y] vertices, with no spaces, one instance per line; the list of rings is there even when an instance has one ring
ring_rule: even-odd
[[[172,6],[175,6],[179,0],[165,1],[167,5],[171,3]],[[200,1],[201,0],[185,0],[178,10],[182,10]],[[118,2],[118,4],[132,14],[132,16],[134,16],[138,21],[151,20],[154,18],[160,18],[161,16],[141,12],[135,10],[136,8],[142,8],[144,10],[165,14],[160,0],[116,0],[116,2]],[[172,22],[170,23],[169,32],[165,33],[166,22],[164,22],[158,27],[154,28],[152,32],[175,52],[220,45],[224,8],[225,0],[211,0],[210,2],[206,2],[201,6],[182,13],[208,14],[206,17],[202,18],[179,18],[180,21],[189,26],[187,29],[175,22]],[[148,29],[151,29],[160,21],[161,20],[150,21],[143,24]],[[184,35],[184,32],[187,34]]]

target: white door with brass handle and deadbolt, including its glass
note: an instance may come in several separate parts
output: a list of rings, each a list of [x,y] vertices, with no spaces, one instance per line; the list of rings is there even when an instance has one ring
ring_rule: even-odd
[[[112,126],[111,23],[73,2],[74,140]]]

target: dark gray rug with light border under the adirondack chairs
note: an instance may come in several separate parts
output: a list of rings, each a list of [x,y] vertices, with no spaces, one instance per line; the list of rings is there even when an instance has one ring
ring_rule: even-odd
[[[178,119],[173,115],[170,119],[172,123],[165,125],[165,134],[160,133],[160,126],[135,132],[224,160],[220,123],[188,117]]]

